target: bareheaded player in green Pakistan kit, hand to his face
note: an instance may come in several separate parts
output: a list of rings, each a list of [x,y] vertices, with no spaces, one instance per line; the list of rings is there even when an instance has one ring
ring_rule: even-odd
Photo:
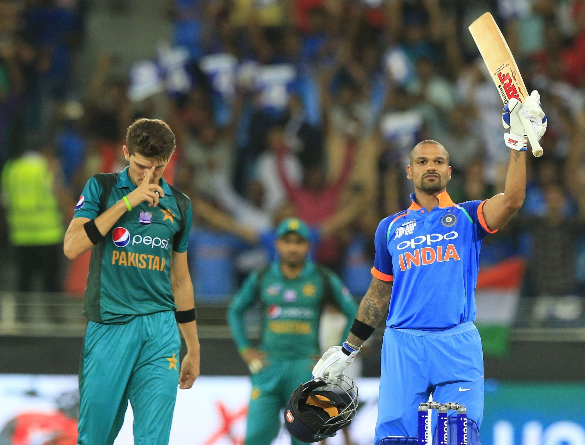
[[[191,388],[199,375],[191,202],[162,177],[175,136],[161,120],[139,119],[126,144],[129,166],[90,178],[64,241],[70,259],[91,249],[78,445],[112,444],[128,401],[134,443],[167,445],[177,384]],[[180,366],[177,323],[187,343]]]

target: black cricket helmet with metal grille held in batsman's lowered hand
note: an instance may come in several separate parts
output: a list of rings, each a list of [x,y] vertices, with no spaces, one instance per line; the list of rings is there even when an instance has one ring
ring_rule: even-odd
[[[284,408],[284,425],[292,437],[304,443],[335,436],[356,416],[357,387],[339,375],[337,383],[319,377],[299,385]]]

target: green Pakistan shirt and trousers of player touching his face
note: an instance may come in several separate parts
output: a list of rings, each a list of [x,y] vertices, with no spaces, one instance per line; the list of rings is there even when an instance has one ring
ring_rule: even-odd
[[[167,445],[180,371],[173,251],[184,252],[192,220],[187,196],[160,180],[157,207],[126,212],[91,252],[80,361],[79,445],[110,445],[128,402],[135,445]],[[74,218],[96,218],[136,185],[128,169],[85,185]]]

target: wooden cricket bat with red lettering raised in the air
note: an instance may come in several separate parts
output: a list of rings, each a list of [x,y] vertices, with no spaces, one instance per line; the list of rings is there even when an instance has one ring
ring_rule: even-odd
[[[504,105],[511,98],[524,102],[528,91],[526,91],[510,47],[508,47],[508,43],[506,43],[491,14],[486,12],[473,22],[469,26],[469,32],[472,33],[473,40],[475,40],[477,49],[479,49],[481,57],[490,71],[491,78],[500,92]],[[520,120],[532,147],[532,154],[536,157],[542,156],[543,151],[538,139],[536,139],[536,134],[534,134],[532,123],[524,115],[520,115]]]

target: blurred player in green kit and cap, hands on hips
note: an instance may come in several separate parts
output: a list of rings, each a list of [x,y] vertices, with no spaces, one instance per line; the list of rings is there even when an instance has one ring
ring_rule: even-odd
[[[280,410],[294,389],[311,380],[313,357],[319,351],[319,318],[325,304],[338,306],[353,320],[357,305],[332,271],[308,260],[309,227],[285,219],[276,231],[280,258],[253,272],[233,298],[228,323],[238,351],[252,372],[245,445],[269,445],[278,435]],[[250,346],[245,312],[261,308],[261,343]],[[349,333],[348,323],[342,338]],[[292,445],[302,442],[292,438]]]

